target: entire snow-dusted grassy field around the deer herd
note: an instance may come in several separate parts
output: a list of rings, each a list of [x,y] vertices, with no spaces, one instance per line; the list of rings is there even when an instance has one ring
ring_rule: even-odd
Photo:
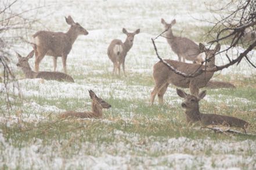
[[[175,86],[168,87],[163,106],[158,105],[157,99],[154,106],[149,106],[154,87],[152,68],[158,61],[151,38],[163,31],[161,18],[168,22],[176,19],[172,29],[175,35],[206,44],[203,36],[211,25],[196,19],[213,19],[207,3],[210,2],[17,2],[13,10],[45,6],[26,13],[27,17],[40,19],[25,35],[28,41],[43,29],[66,32],[69,27],[64,17],[68,15],[89,34],[78,37],[67,58],[67,71],[75,83],[24,79],[16,66],[15,51],[27,56],[33,49],[20,42],[10,49],[10,66],[19,79],[23,102],[8,109],[5,96],[0,95],[0,168],[256,169],[255,136],[188,127]],[[125,60],[127,77],[111,75],[113,65],[107,57],[112,39],[125,40],[122,28],[128,32],[140,28]],[[178,60],[164,38],[158,38],[156,45],[161,57]],[[236,58],[235,54],[233,50],[229,56]],[[224,56],[217,56],[216,60],[217,65],[227,62]],[[30,65],[34,69],[34,58]],[[40,70],[53,71],[51,57],[42,60]],[[60,58],[57,71],[63,71]],[[256,69],[245,60],[239,66],[215,73],[214,79],[229,81],[237,88],[207,90],[207,96],[200,102],[201,112],[239,117],[251,124],[248,133],[256,134],[255,73]],[[66,110],[90,110],[90,89],[112,106],[103,110],[102,120],[58,119],[57,115]],[[15,88],[10,101],[15,102],[17,95]]]

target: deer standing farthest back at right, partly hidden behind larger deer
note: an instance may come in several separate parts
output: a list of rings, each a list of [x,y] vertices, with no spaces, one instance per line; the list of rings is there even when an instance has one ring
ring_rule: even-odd
[[[164,19],[161,19],[161,23],[164,25],[164,29],[167,30],[165,38],[172,51],[178,55],[179,61],[181,61],[181,58],[183,58],[183,62],[185,62],[185,59],[193,61],[193,63],[201,63],[203,61],[199,46],[193,40],[172,34],[172,26],[176,23],[176,20],[172,20],[171,24],[167,24]]]

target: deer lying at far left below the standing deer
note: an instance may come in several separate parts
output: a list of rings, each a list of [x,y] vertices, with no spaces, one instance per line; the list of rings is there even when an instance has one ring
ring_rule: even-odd
[[[57,81],[65,81],[65,82],[73,82],[74,79],[61,72],[34,72],[30,68],[30,64],[28,64],[28,60],[34,56],[34,50],[31,51],[27,57],[21,57],[19,53],[17,53],[17,57],[19,62],[17,66],[19,66],[24,72],[26,79],[45,79],[45,80],[57,80]]]

